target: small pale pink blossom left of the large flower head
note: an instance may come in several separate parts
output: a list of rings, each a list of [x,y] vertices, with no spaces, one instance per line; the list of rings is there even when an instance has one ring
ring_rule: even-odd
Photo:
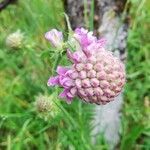
[[[62,43],[63,43],[63,34],[62,32],[59,32],[56,29],[52,29],[49,32],[47,32],[45,34],[45,38],[50,41],[50,43],[58,48],[58,47],[62,47]]]

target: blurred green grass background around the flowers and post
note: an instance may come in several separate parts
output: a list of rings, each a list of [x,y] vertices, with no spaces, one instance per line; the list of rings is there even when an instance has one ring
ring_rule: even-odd
[[[149,150],[150,1],[129,2],[127,84],[118,149]],[[44,34],[51,28],[65,29],[63,12],[61,0],[19,0],[0,12],[0,150],[109,149],[103,137],[91,143],[93,106],[59,103],[57,93],[46,85],[55,55]],[[10,48],[6,39],[17,30],[23,40],[18,48]],[[61,110],[58,115],[47,120],[39,116],[34,104],[39,94],[59,103],[54,104]]]

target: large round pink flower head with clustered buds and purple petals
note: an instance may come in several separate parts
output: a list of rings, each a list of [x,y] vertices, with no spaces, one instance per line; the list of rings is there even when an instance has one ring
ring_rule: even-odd
[[[67,49],[72,65],[58,66],[57,76],[50,77],[48,86],[62,87],[60,97],[68,103],[76,96],[95,104],[113,101],[125,84],[124,64],[104,48],[105,40],[97,39],[92,32],[77,28],[72,38],[80,45],[73,52]]]

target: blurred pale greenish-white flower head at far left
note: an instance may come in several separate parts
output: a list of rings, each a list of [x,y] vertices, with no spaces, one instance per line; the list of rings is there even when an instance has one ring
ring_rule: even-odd
[[[17,30],[14,33],[11,33],[6,38],[6,46],[9,48],[20,48],[23,42],[24,34]]]

